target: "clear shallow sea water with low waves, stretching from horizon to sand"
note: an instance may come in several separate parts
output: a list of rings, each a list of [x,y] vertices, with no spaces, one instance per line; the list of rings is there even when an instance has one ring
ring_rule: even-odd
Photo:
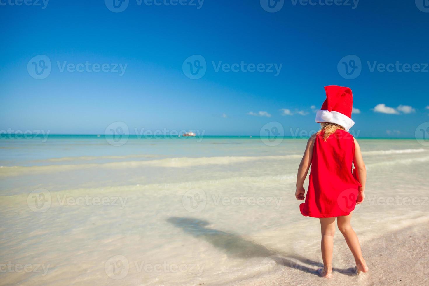
[[[359,141],[368,169],[353,217],[360,240],[426,222],[429,148]],[[302,217],[294,198],[305,144],[2,139],[0,283],[223,285],[273,275],[279,258],[316,266],[318,220]],[[335,263],[347,269],[352,259]]]

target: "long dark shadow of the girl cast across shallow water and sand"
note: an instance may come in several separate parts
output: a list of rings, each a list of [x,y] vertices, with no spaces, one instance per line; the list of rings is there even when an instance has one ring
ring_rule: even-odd
[[[319,276],[317,268],[323,267],[323,264],[320,262],[305,259],[302,256],[281,253],[280,251],[269,249],[255,241],[245,239],[234,233],[207,228],[206,226],[210,225],[210,223],[205,220],[191,217],[169,217],[167,222],[181,228],[185,233],[195,238],[203,239],[211,243],[214,247],[224,251],[228,256],[246,259],[252,257],[262,257],[265,259],[269,257],[279,265],[305,271],[317,276]],[[334,271],[349,276],[355,275],[354,268],[334,268]]]

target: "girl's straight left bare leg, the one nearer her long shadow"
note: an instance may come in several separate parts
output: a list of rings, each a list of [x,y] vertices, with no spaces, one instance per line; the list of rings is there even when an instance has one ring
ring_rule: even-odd
[[[320,229],[322,231],[322,259],[324,277],[332,276],[332,251],[334,250],[335,217],[321,217]]]

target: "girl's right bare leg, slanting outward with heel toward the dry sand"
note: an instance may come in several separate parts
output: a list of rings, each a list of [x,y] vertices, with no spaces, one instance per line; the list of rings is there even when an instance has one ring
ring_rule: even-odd
[[[348,216],[337,217],[338,229],[344,235],[347,245],[354,256],[357,271],[366,272],[368,271],[368,267],[366,266],[365,259],[363,259],[362,251],[360,250],[359,239],[350,225],[351,215],[352,213]]]

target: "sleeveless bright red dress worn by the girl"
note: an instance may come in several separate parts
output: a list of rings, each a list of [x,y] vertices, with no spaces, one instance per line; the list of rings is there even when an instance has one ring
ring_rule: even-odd
[[[353,175],[353,136],[338,129],[323,140],[314,140],[313,158],[305,203],[299,206],[306,217],[346,216],[354,210],[360,183]]]

